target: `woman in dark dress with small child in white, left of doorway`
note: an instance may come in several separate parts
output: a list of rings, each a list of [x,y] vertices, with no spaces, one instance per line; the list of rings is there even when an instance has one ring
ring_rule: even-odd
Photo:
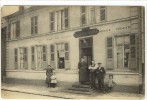
[[[48,67],[46,68],[46,84],[48,85],[48,87],[55,88],[57,84],[57,79],[53,70],[54,69],[50,65],[48,65]]]

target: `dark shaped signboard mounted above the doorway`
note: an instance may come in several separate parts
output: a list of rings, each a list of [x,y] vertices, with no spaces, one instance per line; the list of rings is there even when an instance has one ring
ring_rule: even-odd
[[[75,32],[74,37],[79,38],[79,37],[84,37],[84,36],[96,35],[98,32],[99,30],[97,28],[89,29],[88,27],[88,28],[82,29],[82,31]]]

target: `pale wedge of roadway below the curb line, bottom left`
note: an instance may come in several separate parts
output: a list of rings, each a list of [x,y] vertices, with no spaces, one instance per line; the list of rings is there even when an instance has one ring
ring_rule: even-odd
[[[2,90],[1,97],[3,99],[58,99],[57,97],[12,92],[6,90]]]

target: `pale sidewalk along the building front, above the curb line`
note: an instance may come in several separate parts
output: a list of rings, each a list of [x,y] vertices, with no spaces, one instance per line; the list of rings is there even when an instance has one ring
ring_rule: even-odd
[[[65,87],[47,88],[45,86],[2,83],[1,88],[2,90],[43,95],[43,96],[51,96],[62,99],[144,100],[144,95],[135,94],[135,93],[112,92],[108,94],[103,94],[103,93],[94,92],[91,95],[73,94],[73,93],[63,92],[63,90],[66,89]]]

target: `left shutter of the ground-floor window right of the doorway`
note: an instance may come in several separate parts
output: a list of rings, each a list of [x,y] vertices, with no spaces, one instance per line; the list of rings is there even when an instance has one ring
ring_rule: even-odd
[[[113,38],[108,37],[106,40],[107,46],[107,69],[113,69]]]

